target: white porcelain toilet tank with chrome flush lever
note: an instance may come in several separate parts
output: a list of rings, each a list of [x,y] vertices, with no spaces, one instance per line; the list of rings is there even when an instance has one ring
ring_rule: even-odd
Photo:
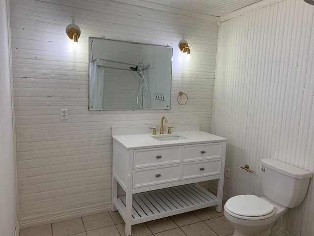
[[[271,158],[262,159],[262,167],[262,188],[267,198],[284,207],[301,205],[312,172]]]

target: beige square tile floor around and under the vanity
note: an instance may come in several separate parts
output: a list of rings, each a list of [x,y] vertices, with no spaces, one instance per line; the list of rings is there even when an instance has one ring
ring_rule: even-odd
[[[20,231],[20,236],[125,236],[124,221],[104,212]],[[132,236],[233,236],[233,228],[214,207],[133,225]]]

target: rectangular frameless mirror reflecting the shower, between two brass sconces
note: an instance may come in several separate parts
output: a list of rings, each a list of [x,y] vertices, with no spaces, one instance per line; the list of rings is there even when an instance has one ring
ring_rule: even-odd
[[[170,109],[172,47],[89,37],[89,110]]]

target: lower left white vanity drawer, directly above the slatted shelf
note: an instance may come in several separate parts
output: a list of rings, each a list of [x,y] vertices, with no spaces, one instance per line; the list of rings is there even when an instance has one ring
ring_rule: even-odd
[[[179,180],[180,164],[151,167],[133,171],[133,188]]]

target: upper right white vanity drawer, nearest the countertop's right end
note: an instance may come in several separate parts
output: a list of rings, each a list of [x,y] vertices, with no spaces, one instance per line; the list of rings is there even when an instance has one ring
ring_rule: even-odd
[[[183,146],[183,162],[221,158],[222,142]]]

